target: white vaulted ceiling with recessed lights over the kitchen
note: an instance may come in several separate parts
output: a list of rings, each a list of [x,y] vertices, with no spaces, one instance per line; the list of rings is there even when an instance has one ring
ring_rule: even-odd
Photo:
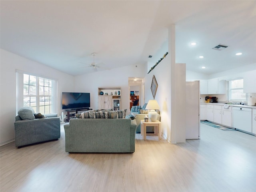
[[[87,67],[93,52],[104,63],[98,70],[145,64],[171,24],[176,62],[188,70],[213,74],[256,63],[255,0],[1,0],[0,6],[2,49],[71,75],[94,72]],[[213,50],[218,44],[229,47]]]

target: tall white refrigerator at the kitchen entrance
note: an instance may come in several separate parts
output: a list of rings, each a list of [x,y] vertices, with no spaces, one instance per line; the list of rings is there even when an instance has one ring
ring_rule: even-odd
[[[186,82],[186,139],[200,139],[200,81]]]

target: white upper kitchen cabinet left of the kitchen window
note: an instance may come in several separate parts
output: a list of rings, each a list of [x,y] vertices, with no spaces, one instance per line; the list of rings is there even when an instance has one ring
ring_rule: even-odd
[[[208,79],[207,94],[226,94],[226,80]]]

